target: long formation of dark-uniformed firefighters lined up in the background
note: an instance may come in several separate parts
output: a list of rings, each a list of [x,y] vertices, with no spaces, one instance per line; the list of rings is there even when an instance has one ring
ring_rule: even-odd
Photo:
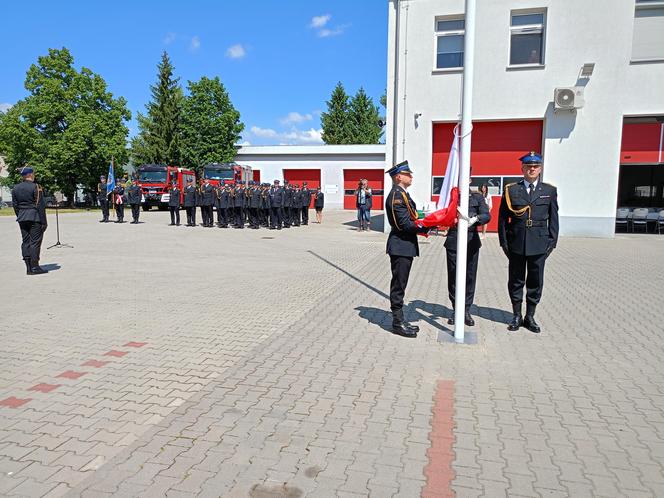
[[[128,187],[118,178],[115,188],[107,193],[106,178],[101,177],[98,185],[98,200],[102,210],[101,223],[108,223],[111,206],[115,208],[115,223],[124,223],[125,205],[131,206],[132,221],[139,223],[141,204],[144,199],[141,185],[137,182]],[[216,225],[220,228],[242,229],[260,227],[281,230],[291,226],[309,224],[309,208],[314,201],[317,221],[321,221],[324,195],[320,187],[310,190],[307,183],[302,186],[291,184],[287,180],[281,186],[279,180],[273,184],[220,181],[212,184],[209,179],[201,179],[199,185],[192,178],[186,180],[184,188],[178,181],[171,183],[168,191],[168,208],[171,225],[180,225],[180,209],[184,207],[187,215],[185,226],[196,226],[196,210],[200,208],[201,226],[215,226],[214,211],[217,212]]]

